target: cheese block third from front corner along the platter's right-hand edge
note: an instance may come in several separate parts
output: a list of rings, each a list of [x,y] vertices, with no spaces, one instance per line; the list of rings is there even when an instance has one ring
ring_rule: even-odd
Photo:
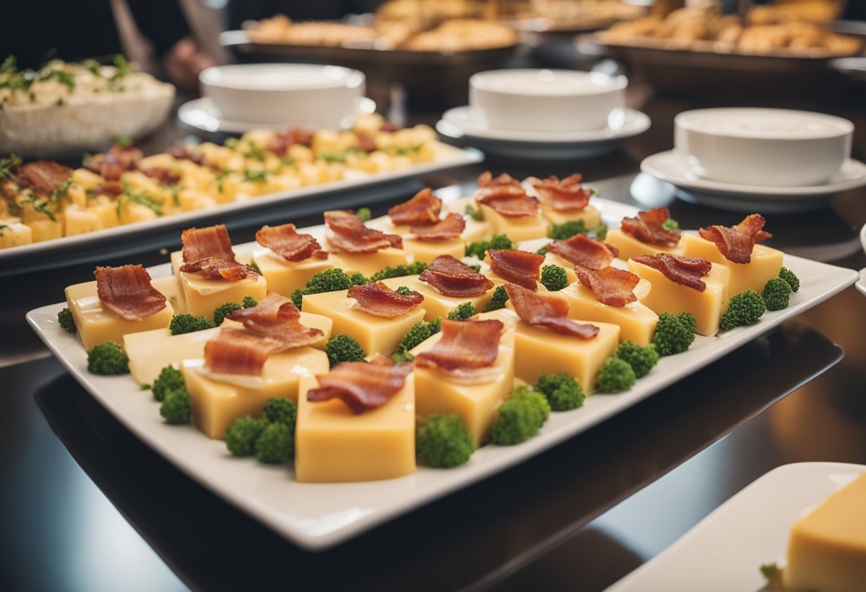
[[[578,339],[544,326],[524,323],[510,308],[488,314],[518,321],[514,327],[514,375],[529,384],[534,384],[544,374],[565,372],[574,376],[584,392],[591,395],[595,392],[598,370],[619,345],[619,326],[611,323],[575,319],[596,325],[599,330],[594,338]]]

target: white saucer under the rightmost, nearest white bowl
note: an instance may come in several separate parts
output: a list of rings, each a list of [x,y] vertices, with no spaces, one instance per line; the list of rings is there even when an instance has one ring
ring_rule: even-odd
[[[772,187],[722,183],[696,176],[674,151],[644,158],[641,171],[674,184],[686,201],[749,212],[794,212],[824,207],[837,194],[866,185],[866,164],[849,158],[827,183],[804,187]]]

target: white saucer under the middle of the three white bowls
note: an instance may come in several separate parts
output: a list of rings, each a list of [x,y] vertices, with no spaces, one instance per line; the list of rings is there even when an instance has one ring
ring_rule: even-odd
[[[591,132],[517,132],[491,128],[483,113],[470,106],[449,109],[436,123],[446,138],[461,140],[482,151],[514,158],[565,159],[598,156],[617,143],[650,127],[650,118],[634,109],[611,115],[608,127]]]

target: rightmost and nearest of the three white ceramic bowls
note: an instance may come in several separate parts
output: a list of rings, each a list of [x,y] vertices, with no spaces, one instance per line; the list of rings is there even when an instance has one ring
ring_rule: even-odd
[[[849,120],[824,113],[697,109],[675,117],[674,146],[699,177],[799,187],[826,183],[839,170],[849,157],[853,132]]]

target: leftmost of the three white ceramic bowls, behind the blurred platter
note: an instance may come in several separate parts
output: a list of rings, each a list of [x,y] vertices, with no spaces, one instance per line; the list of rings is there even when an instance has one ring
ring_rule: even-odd
[[[198,81],[223,119],[313,128],[339,128],[365,92],[358,70],[313,64],[217,66]]]

